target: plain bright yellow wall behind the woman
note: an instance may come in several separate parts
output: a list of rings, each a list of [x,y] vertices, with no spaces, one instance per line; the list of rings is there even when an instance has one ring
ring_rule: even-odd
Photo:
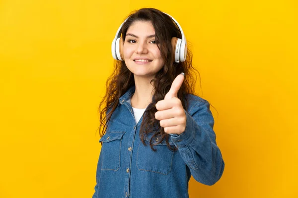
[[[191,198],[298,197],[295,0],[1,0],[0,198],[90,198],[111,42],[133,10],[192,43],[225,169]],[[218,114],[219,113],[219,114]]]

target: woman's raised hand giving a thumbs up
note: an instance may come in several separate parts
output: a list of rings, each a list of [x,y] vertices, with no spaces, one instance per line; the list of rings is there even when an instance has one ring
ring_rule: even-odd
[[[155,119],[160,120],[160,126],[168,134],[181,134],[186,127],[186,115],[182,102],[177,98],[178,91],[183,83],[184,73],[179,74],[173,81],[170,91],[163,100],[159,100],[155,107]]]

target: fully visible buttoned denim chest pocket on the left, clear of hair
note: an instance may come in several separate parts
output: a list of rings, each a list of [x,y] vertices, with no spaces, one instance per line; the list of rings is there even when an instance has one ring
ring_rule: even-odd
[[[99,142],[102,142],[101,170],[117,171],[120,168],[121,142],[125,131],[107,132]]]

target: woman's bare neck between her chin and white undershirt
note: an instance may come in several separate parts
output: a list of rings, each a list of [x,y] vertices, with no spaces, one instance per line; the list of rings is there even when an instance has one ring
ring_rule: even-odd
[[[135,75],[136,90],[131,98],[134,108],[147,108],[152,101],[153,86],[150,84],[152,78],[138,77]]]

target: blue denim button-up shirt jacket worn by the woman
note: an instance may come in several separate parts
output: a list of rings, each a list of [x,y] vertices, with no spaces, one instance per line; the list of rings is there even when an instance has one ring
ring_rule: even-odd
[[[214,118],[209,102],[187,95],[186,129],[149,146],[144,146],[139,132],[143,116],[136,123],[131,106],[131,87],[113,112],[106,134],[99,140],[102,148],[97,164],[95,193],[92,198],[188,198],[191,175],[205,185],[215,184],[224,171],[224,160],[216,144]],[[156,139],[155,141],[158,141]]]

